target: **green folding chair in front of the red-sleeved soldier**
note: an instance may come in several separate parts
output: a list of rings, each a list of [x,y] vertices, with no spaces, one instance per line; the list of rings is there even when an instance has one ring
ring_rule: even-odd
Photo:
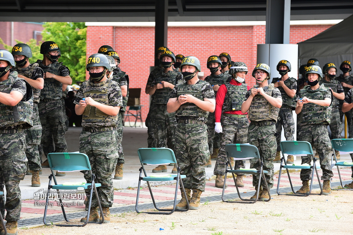
[[[261,185],[261,177],[259,177],[259,182],[258,182],[257,191],[256,191],[257,192],[256,199],[242,198],[240,195],[240,192],[239,192],[239,188],[238,188],[237,184],[235,183],[235,187],[237,188],[238,196],[241,199],[241,201],[226,201],[224,199],[224,191],[226,188],[226,181],[227,181],[228,172],[232,173],[233,178],[235,178],[234,173],[235,174],[242,173],[242,174],[251,174],[251,175],[262,176],[262,179],[265,182],[266,189],[267,189],[267,192],[269,195],[269,199],[264,200],[264,201],[270,201],[271,200],[270,189],[268,188],[267,181],[265,178],[265,173],[268,173],[268,171],[264,171],[262,169],[263,162],[261,160],[260,153],[259,153],[259,150],[257,149],[257,147],[255,145],[248,145],[248,144],[243,144],[243,143],[233,143],[233,144],[226,145],[225,151],[226,151],[226,155],[227,155],[227,159],[228,159],[227,166],[229,165],[231,170],[228,170],[226,167],[223,190],[222,190],[222,201],[223,202],[232,202],[232,203],[255,203],[259,200],[258,197],[259,197],[259,190],[260,190],[260,185]],[[259,160],[260,170],[232,170],[232,166],[230,164],[231,157],[234,158],[234,160],[246,160],[246,159],[251,159],[251,158],[257,158]]]

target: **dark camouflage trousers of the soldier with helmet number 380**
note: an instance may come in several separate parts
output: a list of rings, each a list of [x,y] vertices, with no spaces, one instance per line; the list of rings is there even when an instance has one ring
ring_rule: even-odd
[[[43,146],[43,143],[47,141],[52,135],[54,145],[55,145],[55,153],[66,153],[67,145],[65,140],[65,132],[66,132],[66,114],[64,115],[62,111],[62,101],[61,100],[52,100],[46,102],[39,102],[39,118],[42,125],[42,139],[41,145],[46,154],[46,149]],[[50,142],[48,141],[48,144]]]

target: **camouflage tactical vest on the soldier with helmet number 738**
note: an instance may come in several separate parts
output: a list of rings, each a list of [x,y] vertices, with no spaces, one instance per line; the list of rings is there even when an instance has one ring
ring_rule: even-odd
[[[177,97],[180,95],[191,94],[199,100],[203,100],[202,87],[205,86],[207,82],[200,80],[197,84],[178,84]],[[207,119],[209,112],[204,111],[199,108],[194,103],[182,104],[178,110],[175,112],[175,116],[191,116],[191,117],[204,117]]]

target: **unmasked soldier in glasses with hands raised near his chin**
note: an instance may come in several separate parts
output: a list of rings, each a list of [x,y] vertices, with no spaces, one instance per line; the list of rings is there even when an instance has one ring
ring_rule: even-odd
[[[246,93],[245,101],[241,106],[241,112],[249,111],[249,120],[251,121],[248,129],[248,140],[251,145],[255,145],[259,149],[260,157],[263,162],[263,170],[268,171],[265,174],[268,188],[273,187],[273,159],[276,154],[276,121],[280,107],[282,106],[282,96],[278,88],[274,84],[268,84],[271,77],[271,70],[267,64],[258,64],[252,71],[259,85]],[[250,159],[250,168],[260,169],[258,159]],[[252,185],[258,188],[259,177],[261,175],[252,176]],[[269,199],[269,195],[265,187],[265,182],[261,181],[259,191],[260,199]],[[264,190],[262,190],[264,188]],[[256,194],[251,199],[256,199]]]

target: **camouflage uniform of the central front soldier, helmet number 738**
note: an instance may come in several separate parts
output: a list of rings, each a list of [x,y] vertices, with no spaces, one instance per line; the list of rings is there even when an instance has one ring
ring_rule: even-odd
[[[183,94],[192,94],[200,100],[215,99],[212,86],[202,80],[193,85],[179,83],[172,90],[170,98],[178,98]],[[175,112],[178,125],[175,131],[174,152],[180,174],[186,175],[186,178],[183,178],[184,187],[199,189],[202,192],[205,191],[206,185],[205,164],[210,157],[205,124],[208,113],[193,103],[185,103]]]

